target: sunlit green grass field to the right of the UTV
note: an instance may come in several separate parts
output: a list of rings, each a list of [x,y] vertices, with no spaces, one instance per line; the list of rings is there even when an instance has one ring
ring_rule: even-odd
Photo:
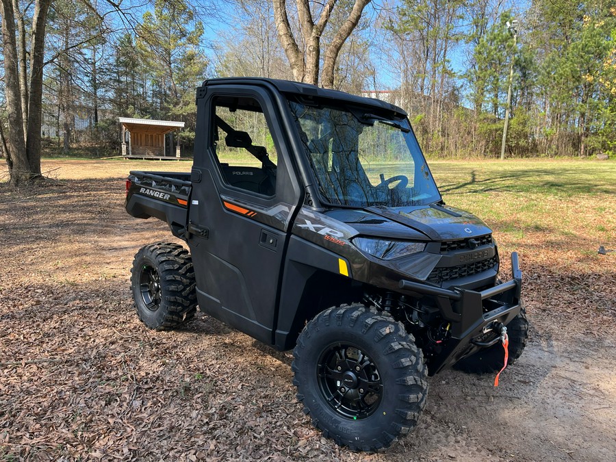
[[[441,194],[505,233],[616,240],[616,162],[431,162]]]

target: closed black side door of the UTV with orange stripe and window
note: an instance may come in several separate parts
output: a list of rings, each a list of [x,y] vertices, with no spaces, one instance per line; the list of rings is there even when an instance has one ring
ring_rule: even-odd
[[[280,120],[264,88],[207,88],[188,227],[200,308],[268,344],[301,196]]]

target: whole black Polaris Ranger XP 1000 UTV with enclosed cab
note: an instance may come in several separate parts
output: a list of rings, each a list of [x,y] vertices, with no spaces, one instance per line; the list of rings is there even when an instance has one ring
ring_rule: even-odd
[[[140,319],[201,311],[294,348],[297,398],[325,437],[389,446],[417,424],[426,376],[496,372],[526,344],[522,273],[497,279],[491,230],[446,205],[405,112],[290,81],[205,81],[191,172],[131,172],[126,209],[177,244],[135,256]]]

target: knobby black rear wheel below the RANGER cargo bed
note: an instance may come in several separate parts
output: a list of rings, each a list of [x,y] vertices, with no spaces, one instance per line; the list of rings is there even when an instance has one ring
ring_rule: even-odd
[[[131,289],[139,319],[164,331],[190,321],[196,311],[190,253],[179,244],[159,242],[136,253]]]

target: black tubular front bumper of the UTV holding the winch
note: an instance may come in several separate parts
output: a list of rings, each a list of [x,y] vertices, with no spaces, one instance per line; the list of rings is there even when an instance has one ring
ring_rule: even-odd
[[[519,270],[515,252],[511,253],[511,269],[511,281],[481,292],[460,288],[447,290],[413,281],[400,281],[399,287],[403,292],[434,296],[441,316],[451,323],[451,337],[443,342],[440,352],[428,365],[430,375],[498,342],[498,336],[485,342],[485,334],[509,324],[520,311],[522,271]]]

